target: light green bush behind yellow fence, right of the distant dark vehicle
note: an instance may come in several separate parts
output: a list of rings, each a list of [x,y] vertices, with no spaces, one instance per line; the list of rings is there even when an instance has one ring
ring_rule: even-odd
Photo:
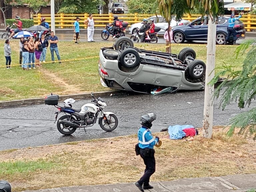
[[[155,14],[157,10],[154,0],[128,0],[126,4],[130,13]]]

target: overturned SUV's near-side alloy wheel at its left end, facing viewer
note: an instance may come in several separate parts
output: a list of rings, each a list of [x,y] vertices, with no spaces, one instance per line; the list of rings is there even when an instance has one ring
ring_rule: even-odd
[[[127,48],[120,54],[121,65],[125,68],[137,67],[140,63],[140,55],[133,48]]]

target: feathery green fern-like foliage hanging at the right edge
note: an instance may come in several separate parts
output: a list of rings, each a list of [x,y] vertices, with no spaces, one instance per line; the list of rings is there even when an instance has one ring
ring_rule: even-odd
[[[220,97],[220,107],[224,110],[232,102],[236,102],[240,109],[250,107],[252,100],[256,99],[256,40],[241,44],[236,49],[236,57],[239,53],[246,53],[242,70],[234,70],[232,65],[224,63],[220,72],[211,80],[213,85],[220,76],[227,75],[227,79],[215,90],[214,96]],[[223,93],[221,93],[223,90]],[[256,139],[256,108],[243,112],[231,119],[231,127],[228,136],[232,136],[236,128],[240,128],[239,134],[254,134]]]

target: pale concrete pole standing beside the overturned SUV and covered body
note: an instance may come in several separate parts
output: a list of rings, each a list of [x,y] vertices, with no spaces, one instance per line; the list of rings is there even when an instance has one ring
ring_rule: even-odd
[[[213,128],[213,93],[214,86],[208,85],[214,77],[216,52],[216,24],[212,22],[209,15],[208,38],[207,38],[207,57],[206,57],[206,74],[204,89],[204,119],[203,119],[203,137],[212,138]]]

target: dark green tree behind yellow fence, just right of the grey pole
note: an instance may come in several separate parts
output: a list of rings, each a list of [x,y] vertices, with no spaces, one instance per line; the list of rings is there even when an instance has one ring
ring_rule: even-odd
[[[102,4],[102,0],[63,0],[58,13],[97,13],[99,4]]]

